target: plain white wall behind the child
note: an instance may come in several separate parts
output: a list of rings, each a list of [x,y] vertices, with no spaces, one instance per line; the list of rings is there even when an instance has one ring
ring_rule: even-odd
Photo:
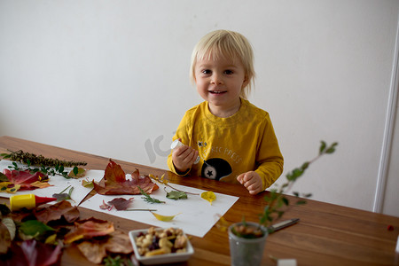
[[[295,190],[372,210],[398,11],[394,0],[2,0],[0,136],[167,168],[180,119],[201,101],[188,78],[192,48],[231,29],[254,46],[250,100],[270,113],[282,178],[320,140],[338,141]],[[399,216],[389,169],[383,212]]]

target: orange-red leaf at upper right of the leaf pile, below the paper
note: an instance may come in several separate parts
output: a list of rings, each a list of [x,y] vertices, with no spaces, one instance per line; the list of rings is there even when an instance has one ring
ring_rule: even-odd
[[[113,232],[113,223],[91,217],[74,223],[74,230],[67,233],[64,243],[70,244],[79,239],[91,239],[98,236],[106,236]]]

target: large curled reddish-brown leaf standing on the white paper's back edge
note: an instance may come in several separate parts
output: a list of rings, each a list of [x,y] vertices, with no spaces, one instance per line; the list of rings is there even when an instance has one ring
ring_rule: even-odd
[[[126,179],[121,166],[109,160],[104,178],[98,184],[94,183],[94,190],[101,195],[138,195],[137,186],[149,194],[159,188],[149,176],[140,176],[138,169],[131,174],[131,179]]]

